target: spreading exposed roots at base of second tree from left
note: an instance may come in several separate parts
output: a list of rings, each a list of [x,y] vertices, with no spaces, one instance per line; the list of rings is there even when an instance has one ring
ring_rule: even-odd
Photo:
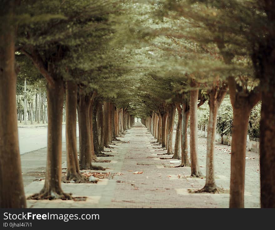
[[[72,193],[64,193],[63,191],[45,191],[42,189],[40,193],[35,193],[29,196],[28,200],[55,200],[55,199],[62,199],[62,200],[72,200]]]

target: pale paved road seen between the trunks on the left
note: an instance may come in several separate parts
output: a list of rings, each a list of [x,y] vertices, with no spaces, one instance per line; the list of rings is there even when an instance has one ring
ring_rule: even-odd
[[[47,147],[47,127],[18,128],[19,150],[24,154],[36,149]],[[77,124],[77,136],[79,136]],[[66,125],[62,125],[62,142],[66,141]]]

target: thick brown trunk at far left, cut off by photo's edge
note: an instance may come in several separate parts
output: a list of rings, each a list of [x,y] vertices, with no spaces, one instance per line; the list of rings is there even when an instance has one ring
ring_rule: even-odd
[[[14,2],[1,5],[1,17],[13,15]],[[15,29],[8,22],[0,23],[0,207],[26,208],[16,120]]]

